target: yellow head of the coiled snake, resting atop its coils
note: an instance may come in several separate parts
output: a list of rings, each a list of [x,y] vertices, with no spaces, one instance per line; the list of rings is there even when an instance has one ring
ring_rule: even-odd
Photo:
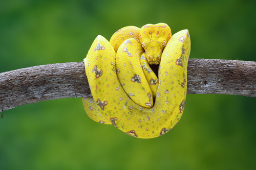
[[[140,29],[140,42],[150,64],[159,64],[164,47],[172,36],[166,23],[147,24]]]

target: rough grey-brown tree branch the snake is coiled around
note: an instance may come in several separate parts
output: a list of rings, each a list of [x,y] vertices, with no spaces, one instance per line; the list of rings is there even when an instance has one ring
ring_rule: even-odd
[[[157,73],[158,66],[152,66]],[[256,97],[256,62],[189,59],[188,94]],[[0,74],[0,110],[46,100],[91,96],[83,62],[22,68]]]

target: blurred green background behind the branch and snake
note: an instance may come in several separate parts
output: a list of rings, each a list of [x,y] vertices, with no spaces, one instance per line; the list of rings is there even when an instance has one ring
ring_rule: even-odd
[[[1,1],[0,72],[83,61],[100,34],[165,22],[190,58],[256,61],[255,1]],[[188,94],[179,124],[137,139],[91,120],[79,98],[4,111],[0,169],[256,169],[256,98]]]

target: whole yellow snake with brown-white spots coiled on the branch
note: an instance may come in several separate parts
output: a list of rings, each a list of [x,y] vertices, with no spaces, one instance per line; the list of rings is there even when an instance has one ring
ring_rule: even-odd
[[[134,137],[165,134],[184,110],[189,54],[188,30],[172,36],[165,23],[124,27],[110,41],[98,35],[84,59],[86,113]],[[159,64],[158,78],[149,64]]]

